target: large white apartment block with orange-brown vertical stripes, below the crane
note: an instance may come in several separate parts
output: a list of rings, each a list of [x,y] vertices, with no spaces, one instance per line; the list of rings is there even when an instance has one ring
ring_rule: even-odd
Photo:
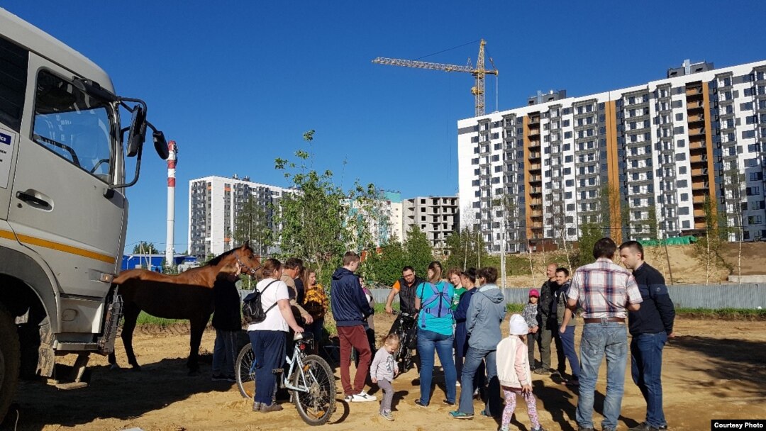
[[[649,239],[720,216],[732,239],[766,237],[764,73],[766,61],[687,60],[663,80],[460,120],[461,226],[511,253],[577,240],[587,223]]]

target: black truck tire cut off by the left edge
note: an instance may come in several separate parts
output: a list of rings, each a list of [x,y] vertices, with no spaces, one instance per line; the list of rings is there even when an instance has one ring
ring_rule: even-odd
[[[16,395],[21,361],[18,332],[11,313],[0,305],[0,423]]]

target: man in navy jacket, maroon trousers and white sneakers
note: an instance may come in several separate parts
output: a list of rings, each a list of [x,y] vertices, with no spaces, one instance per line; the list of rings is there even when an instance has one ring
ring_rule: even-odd
[[[345,401],[362,403],[375,401],[377,398],[365,392],[365,377],[370,367],[372,351],[365,332],[365,319],[375,313],[370,308],[359,276],[354,272],[359,267],[359,255],[349,251],[343,255],[343,266],[332,274],[330,305],[335,318],[340,339],[340,381],[345,393]],[[359,364],[351,385],[351,348],[358,352]]]

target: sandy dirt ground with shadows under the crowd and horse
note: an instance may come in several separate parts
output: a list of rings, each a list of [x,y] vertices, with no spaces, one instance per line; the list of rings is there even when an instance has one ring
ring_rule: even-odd
[[[388,315],[376,316],[378,331],[388,328]],[[503,328],[507,328],[504,325]],[[578,325],[577,339],[582,325]],[[507,330],[507,329],[506,329]],[[710,429],[712,418],[766,418],[766,322],[716,320],[676,321],[677,337],[664,354],[663,387],[666,417],[670,429],[697,431]],[[185,357],[188,334],[182,327],[165,331],[143,330],[136,334],[134,345],[141,372],[127,369],[110,371],[106,358],[91,359],[90,386],[77,390],[58,390],[38,382],[24,382],[18,391],[19,430],[122,430],[140,427],[146,431],[216,430],[216,429],[307,429],[295,407],[284,404],[277,413],[253,413],[250,400],[241,398],[236,384],[211,382],[210,351],[214,332],[202,339],[202,373],[187,377]],[[126,364],[118,339],[117,358]],[[553,354],[555,358],[555,354]],[[554,359],[555,362],[555,359]],[[628,364],[630,367],[630,362]],[[413,383],[417,371],[394,380],[398,391],[394,398],[394,422],[378,416],[378,403],[345,404],[337,380],[337,411],[326,429],[496,429],[497,423],[476,416],[473,420],[453,420],[444,399],[444,378],[437,368],[437,387],[431,406],[414,405],[419,386]],[[339,374],[336,373],[336,376]],[[353,375],[353,374],[352,374]],[[597,385],[596,412],[601,411],[605,390],[605,366]],[[533,374],[538,413],[546,429],[577,429],[574,421],[577,393],[560,380]],[[377,388],[371,393],[381,395]],[[620,429],[643,420],[645,404],[637,387],[625,377],[625,395]],[[476,411],[480,403],[475,403]],[[9,413],[11,428],[15,413]],[[601,416],[594,415],[600,428]],[[8,424],[8,422],[6,423]],[[529,418],[523,400],[519,400],[513,426],[529,430]],[[8,426],[8,425],[6,425]],[[512,428],[513,429],[513,428]]]

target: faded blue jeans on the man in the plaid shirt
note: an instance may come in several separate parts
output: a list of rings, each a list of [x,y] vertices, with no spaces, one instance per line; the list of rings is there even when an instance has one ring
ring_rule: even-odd
[[[580,341],[580,397],[575,416],[579,426],[593,428],[593,402],[598,368],[607,357],[607,395],[602,429],[617,429],[625,386],[627,331],[619,322],[586,323]]]

